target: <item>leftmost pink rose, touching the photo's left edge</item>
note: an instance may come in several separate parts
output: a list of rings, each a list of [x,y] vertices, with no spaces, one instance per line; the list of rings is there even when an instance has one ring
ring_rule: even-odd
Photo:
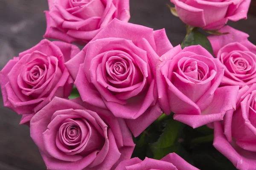
[[[79,51],[66,42],[42,40],[6,64],[0,72],[3,103],[23,115],[21,124],[29,122],[54,96],[70,95],[73,79],[64,63]]]

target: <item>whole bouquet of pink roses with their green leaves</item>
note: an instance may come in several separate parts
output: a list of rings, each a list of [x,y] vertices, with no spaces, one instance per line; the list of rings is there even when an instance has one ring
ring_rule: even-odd
[[[171,2],[175,47],[128,23],[129,0],[48,0],[44,37],[60,41],[0,71],[47,169],[256,170],[256,46],[226,25],[250,0]]]

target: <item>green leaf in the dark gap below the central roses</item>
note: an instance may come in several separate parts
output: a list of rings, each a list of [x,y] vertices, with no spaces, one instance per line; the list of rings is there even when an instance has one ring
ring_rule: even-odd
[[[157,142],[150,144],[154,159],[162,159],[168,153],[176,152],[174,145],[185,125],[173,119],[166,120],[166,127]]]

